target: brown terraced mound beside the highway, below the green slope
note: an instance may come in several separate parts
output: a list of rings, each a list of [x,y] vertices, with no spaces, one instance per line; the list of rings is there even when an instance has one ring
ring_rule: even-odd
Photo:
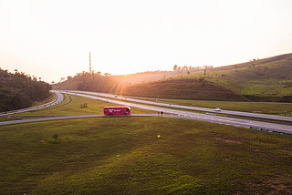
[[[124,95],[138,97],[163,97],[206,100],[241,100],[243,96],[203,79],[167,79],[159,82],[137,84],[126,87]]]

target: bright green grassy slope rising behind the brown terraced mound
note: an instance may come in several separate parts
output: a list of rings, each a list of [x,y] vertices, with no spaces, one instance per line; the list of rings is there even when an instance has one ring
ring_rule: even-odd
[[[292,54],[222,67],[220,71],[210,71],[205,76],[201,74],[182,78],[199,77],[253,100],[262,97],[273,101],[291,101]]]

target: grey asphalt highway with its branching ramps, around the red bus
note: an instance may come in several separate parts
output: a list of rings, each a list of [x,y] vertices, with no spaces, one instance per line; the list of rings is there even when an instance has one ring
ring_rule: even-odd
[[[125,100],[125,97],[115,97],[113,99],[112,98],[112,97],[114,97],[113,95],[101,94],[101,93],[95,93],[95,92],[67,91],[67,90],[66,91],[55,90],[53,92],[55,92],[57,94],[57,100],[54,102],[54,104],[50,104],[50,105],[55,105],[55,104],[59,103],[61,100],[63,100],[63,96],[61,95],[61,93],[66,93],[66,94],[80,96],[80,97],[88,97],[88,98],[93,98],[93,99],[97,99],[97,100],[101,100],[101,101],[107,101],[107,102],[110,102],[113,104],[125,105],[125,106],[129,106],[129,107],[133,107],[133,108],[148,109],[148,110],[153,110],[153,111],[157,112],[157,114],[132,114],[132,116],[158,117],[158,116],[162,116],[161,113],[163,112],[164,113],[163,117],[195,119],[195,120],[201,120],[201,121],[206,121],[206,122],[231,125],[231,126],[235,126],[235,127],[254,128],[254,129],[258,129],[258,130],[264,130],[267,132],[277,132],[277,133],[292,135],[292,126],[291,125],[280,125],[280,124],[276,124],[276,123],[261,122],[261,121],[256,121],[256,120],[240,119],[240,118],[227,118],[227,117],[216,116],[214,114],[206,115],[206,114],[193,113],[191,111],[182,111],[182,110],[172,109],[172,108],[183,108],[183,109],[197,110],[197,108],[193,108],[193,107],[185,107],[185,106],[180,106],[180,105],[172,105],[172,107],[170,107],[170,105],[168,105],[168,104],[144,101],[144,100],[139,100],[139,99],[130,98],[130,97],[127,97],[127,100],[129,100],[129,102],[128,101],[120,101],[121,99]],[[99,97],[97,97],[97,96],[99,96]],[[130,101],[135,101],[137,103],[132,103]],[[139,103],[151,104],[153,106],[141,105]],[[38,107],[38,108],[46,108],[47,106],[42,106],[42,107]],[[162,107],[168,107],[168,108],[158,108],[158,107],[154,107],[154,106],[162,106]],[[27,108],[27,109],[24,109],[22,111],[29,111],[29,110],[34,110],[34,109],[36,109],[36,108]],[[211,112],[214,110],[208,109],[208,108],[202,108],[202,111],[210,111]],[[19,111],[17,111],[17,113],[18,112]],[[234,111],[226,111],[226,112],[234,113]],[[165,115],[165,113],[167,113],[167,115]],[[252,114],[252,113],[245,113],[245,112],[235,112],[235,113],[237,113],[237,115],[239,115],[238,113],[251,114],[251,115],[249,115],[249,117],[252,117],[253,115],[255,115],[256,118],[265,118],[266,117],[266,115],[261,115],[261,114]],[[33,119],[11,120],[11,121],[0,122],[0,125],[9,125],[9,124],[16,124],[16,123],[23,123],[23,122],[35,122],[35,121],[52,120],[52,119],[90,118],[90,117],[109,117],[109,116],[82,115],[82,116],[66,116],[66,117],[52,117],[52,118],[33,118]],[[129,117],[129,116],[120,116],[120,117]],[[268,117],[273,117],[273,116],[268,116]],[[287,121],[289,121],[288,119],[290,119],[290,118],[283,118],[283,117],[281,118],[281,120],[285,120],[285,119],[287,119]]]

